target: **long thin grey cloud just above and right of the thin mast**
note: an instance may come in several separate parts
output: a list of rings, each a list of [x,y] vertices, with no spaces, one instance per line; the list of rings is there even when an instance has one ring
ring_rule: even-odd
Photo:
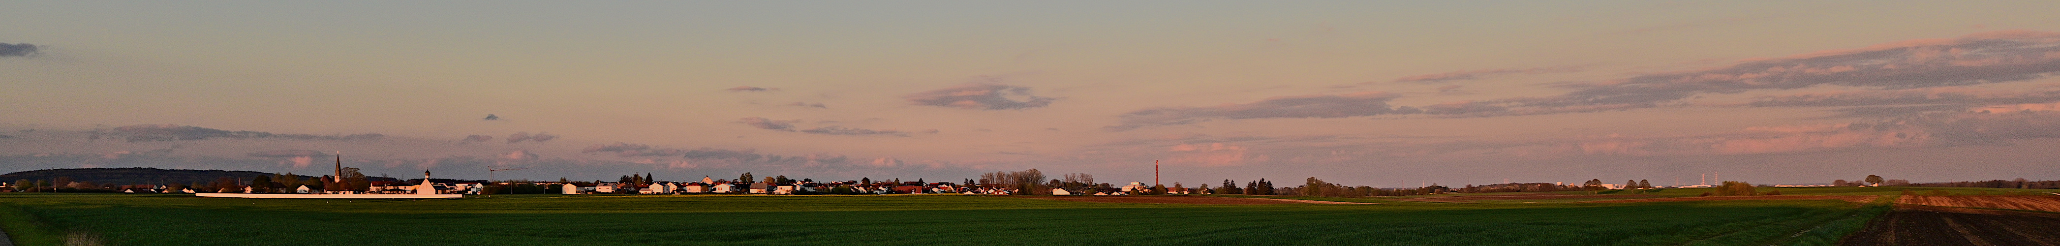
[[[1364,91],[1345,95],[1292,95],[1269,97],[1250,103],[1226,103],[1209,107],[1149,107],[1123,114],[1123,124],[1104,130],[1131,130],[1143,126],[1195,124],[1207,120],[1240,118],[1351,118],[1380,114],[1421,114],[1415,107],[1388,107],[1395,93]]]

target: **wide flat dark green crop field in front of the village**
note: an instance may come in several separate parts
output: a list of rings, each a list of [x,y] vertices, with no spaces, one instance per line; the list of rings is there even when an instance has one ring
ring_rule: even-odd
[[[1238,198],[1238,196],[1191,196]],[[1308,196],[1265,196],[1318,201]],[[1160,196],[1158,201],[1166,201]],[[1174,198],[1178,201],[1178,198]],[[474,196],[445,201],[0,194],[19,244],[1835,244],[1846,201],[1193,205],[1022,196]]]

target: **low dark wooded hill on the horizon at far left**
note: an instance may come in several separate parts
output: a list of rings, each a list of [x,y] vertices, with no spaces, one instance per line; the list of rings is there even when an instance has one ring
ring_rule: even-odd
[[[206,184],[214,182],[216,178],[255,178],[255,176],[274,176],[274,174],[227,172],[227,170],[159,170],[159,167],[62,167],[62,170],[0,174],[0,182],[70,178],[74,182],[95,182],[95,184]],[[313,180],[319,176],[301,176],[301,178]],[[391,182],[393,178],[367,178],[367,180]]]

